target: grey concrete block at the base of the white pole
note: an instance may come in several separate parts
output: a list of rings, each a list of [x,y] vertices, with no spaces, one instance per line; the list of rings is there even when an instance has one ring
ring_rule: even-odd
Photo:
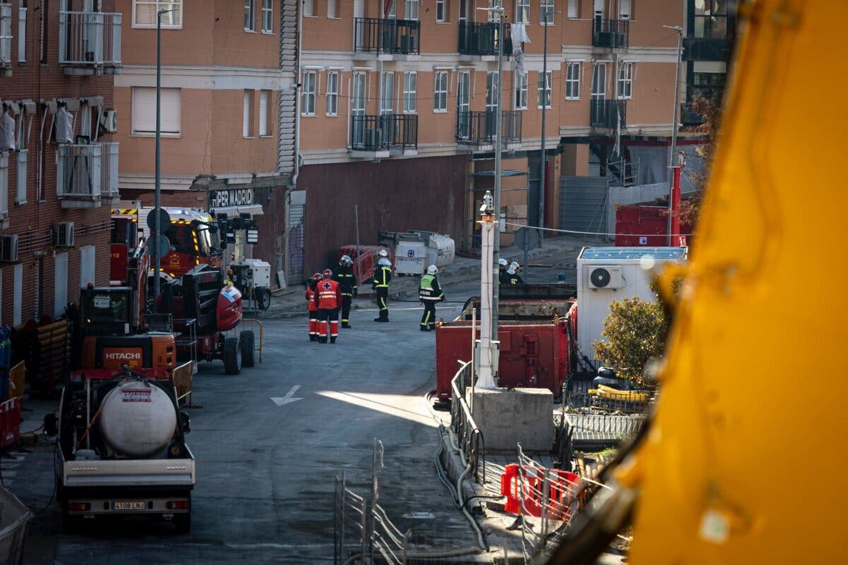
[[[554,442],[554,395],[547,389],[471,389],[466,392],[486,451],[550,451]]]

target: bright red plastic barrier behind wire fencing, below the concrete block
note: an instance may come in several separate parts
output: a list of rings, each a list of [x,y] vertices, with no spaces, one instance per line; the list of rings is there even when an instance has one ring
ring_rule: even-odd
[[[520,470],[524,474],[523,484],[519,480]],[[516,463],[507,465],[504,474],[500,475],[500,494],[506,496],[505,512],[510,514],[524,511],[536,518],[542,517],[542,496],[544,475],[548,474],[550,498],[548,501],[548,518],[551,520],[567,521],[571,518],[571,505],[577,496],[577,485],[580,477],[568,471],[546,469],[542,467],[519,466]],[[519,488],[521,487],[521,492]]]

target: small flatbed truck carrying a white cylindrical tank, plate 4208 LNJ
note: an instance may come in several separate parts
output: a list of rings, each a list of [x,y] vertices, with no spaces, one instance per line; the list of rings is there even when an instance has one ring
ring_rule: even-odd
[[[146,515],[191,529],[194,457],[171,379],[124,365],[106,379],[79,375],[64,386],[59,413],[45,418],[56,435],[56,496],[73,531],[98,516]]]

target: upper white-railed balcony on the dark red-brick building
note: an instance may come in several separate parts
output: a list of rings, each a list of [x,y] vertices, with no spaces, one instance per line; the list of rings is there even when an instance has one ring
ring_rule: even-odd
[[[59,66],[65,75],[120,74],[121,14],[59,12]]]

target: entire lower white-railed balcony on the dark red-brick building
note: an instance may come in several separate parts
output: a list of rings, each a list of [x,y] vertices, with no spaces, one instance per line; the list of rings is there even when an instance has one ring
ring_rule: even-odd
[[[62,208],[98,208],[118,198],[118,144],[59,145],[56,196]]]

